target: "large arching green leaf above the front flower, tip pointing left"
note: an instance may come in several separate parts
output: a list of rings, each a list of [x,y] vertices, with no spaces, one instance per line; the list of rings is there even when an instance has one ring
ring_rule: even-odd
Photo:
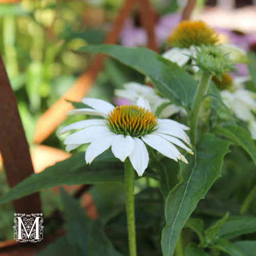
[[[178,105],[191,105],[196,89],[196,80],[176,63],[145,48],[126,48],[115,45],[86,46],[80,52],[110,55],[125,65],[148,76],[154,86]]]

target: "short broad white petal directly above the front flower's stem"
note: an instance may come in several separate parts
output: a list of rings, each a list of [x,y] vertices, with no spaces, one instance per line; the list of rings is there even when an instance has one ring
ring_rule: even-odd
[[[134,150],[134,140],[131,136],[119,134],[112,143],[112,152],[114,156],[122,162],[127,156],[130,156]]]

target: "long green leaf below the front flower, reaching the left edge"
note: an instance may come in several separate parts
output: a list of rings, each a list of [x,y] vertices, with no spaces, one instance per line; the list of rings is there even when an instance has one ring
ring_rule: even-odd
[[[111,151],[107,151],[98,156],[93,164],[88,165],[84,160],[84,152],[81,152],[20,182],[0,198],[0,204],[63,184],[122,182],[123,164],[119,161],[114,163],[116,160]]]

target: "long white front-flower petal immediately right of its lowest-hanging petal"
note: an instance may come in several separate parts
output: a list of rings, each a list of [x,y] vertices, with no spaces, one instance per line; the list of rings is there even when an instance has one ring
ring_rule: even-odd
[[[160,152],[162,155],[174,159],[180,159],[180,152],[177,148],[167,140],[154,134],[147,134],[142,137],[142,140],[149,146],[153,147],[155,150]]]

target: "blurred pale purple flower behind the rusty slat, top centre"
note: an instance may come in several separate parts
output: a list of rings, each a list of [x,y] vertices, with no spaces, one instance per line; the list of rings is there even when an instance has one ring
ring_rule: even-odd
[[[159,18],[156,27],[156,40],[158,46],[169,36],[170,32],[179,24],[180,14],[166,14]],[[123,30],[120,34],[121,44],[127,47],[146,46],[147,34],[144,28],[136,27],[134,20],[126,20]]]

